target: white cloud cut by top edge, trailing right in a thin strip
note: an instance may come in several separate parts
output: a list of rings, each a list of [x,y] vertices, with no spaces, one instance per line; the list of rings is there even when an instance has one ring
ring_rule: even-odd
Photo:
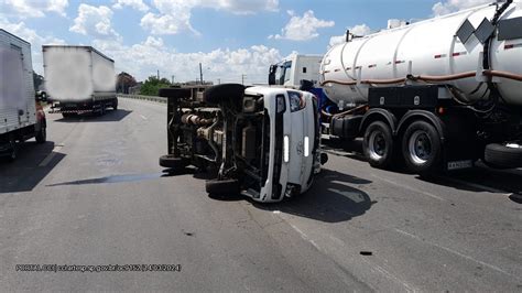
[[[211,8],[235,14],[252,14],[259,11],[276,11],[279,0],[153,0],[157,12],[149,12],[141,19],[141,26],[152,34],[176,34],[197,31],[191,24],[194,8]]]

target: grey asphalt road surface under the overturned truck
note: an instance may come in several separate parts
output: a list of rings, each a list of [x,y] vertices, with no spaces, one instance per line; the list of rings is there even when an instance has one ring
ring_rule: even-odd
[[[302,197],[210,198],[205,174],[157,165],[165,112],[120,99],[105,117],[50,115],[50,142],[0,165],[2,291],[522,291],[522,171],[426,180],[371,169],[356,143],[331,150]]]

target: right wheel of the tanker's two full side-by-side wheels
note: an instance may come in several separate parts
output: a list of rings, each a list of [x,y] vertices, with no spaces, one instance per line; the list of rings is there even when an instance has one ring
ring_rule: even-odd
[[[409,171],[417,174],[441,171],[443,144],[438,131],[426,121],[411,123],[402,138],[402,155]]]

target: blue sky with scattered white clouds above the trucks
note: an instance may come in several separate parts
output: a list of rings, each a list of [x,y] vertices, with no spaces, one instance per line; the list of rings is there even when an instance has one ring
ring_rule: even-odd
[[[324,54],[350,28],[378,31],[388,19],[427,19],[492,0],[0,0],[0,28],[41,45],[93,45],[138,79],[162,76],[265,82],[293,52]],[[337,39],[336,39],[337,36]]]

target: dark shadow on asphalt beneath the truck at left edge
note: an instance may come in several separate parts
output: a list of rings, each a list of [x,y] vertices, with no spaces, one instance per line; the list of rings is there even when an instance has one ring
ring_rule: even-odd
[[[14,162],[0,162],[0,194],[31,192],[65,158],[53,152],[54,142],[29,141],[19,145]]]

